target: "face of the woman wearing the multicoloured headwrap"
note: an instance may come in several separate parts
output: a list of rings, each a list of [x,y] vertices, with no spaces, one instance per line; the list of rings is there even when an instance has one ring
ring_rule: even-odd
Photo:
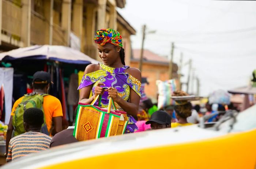
[[[120,47],[116,47],[110,43],[106,43],[104,46],[100,46],[99,44],[97,44],[97,48],[99,51],[99,57],[106,66],[112,65],[113,63],[117,62],[118,59],[120,59]]]

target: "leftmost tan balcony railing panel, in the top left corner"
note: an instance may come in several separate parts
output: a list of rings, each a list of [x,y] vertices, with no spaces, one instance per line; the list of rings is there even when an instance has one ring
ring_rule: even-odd
[[[2,30],[12,36],[21,35],[22,8],[14,3],[2,1]]]

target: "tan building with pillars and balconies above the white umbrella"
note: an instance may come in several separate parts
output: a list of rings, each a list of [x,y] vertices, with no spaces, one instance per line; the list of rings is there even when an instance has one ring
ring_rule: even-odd
[[[116,10],[124,7],[125,0],[0,0],[0,50],[63,45],[99,59],[94,33],[111,27],[123,35],[129,64],[136,31]]]

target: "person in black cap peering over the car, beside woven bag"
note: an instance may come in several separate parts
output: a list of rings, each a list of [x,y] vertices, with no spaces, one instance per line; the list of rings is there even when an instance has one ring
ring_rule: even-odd
[[[150,124],[152,130],[165,129],[171,127],[172,117],[166,111],[155,111],[146,125]]]

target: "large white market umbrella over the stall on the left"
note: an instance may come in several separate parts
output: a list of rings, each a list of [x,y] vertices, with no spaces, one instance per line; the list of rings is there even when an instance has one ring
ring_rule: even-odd
[[[97,60],[78,50],[57,45],[34,45],[0,53],[0,60],[4,62],[20,58],[57,60],[74,64],[98,63]]]

